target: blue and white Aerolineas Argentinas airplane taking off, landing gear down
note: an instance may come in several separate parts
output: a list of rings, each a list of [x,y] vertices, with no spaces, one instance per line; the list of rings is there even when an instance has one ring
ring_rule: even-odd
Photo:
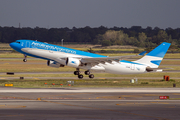
[[[16,40],[9,45],[17,52],[24,54],[24,62],[27,61],[27,56],[32,56],[47,60],[47,66],[50,67],[74,67],[76,68],[74,75],[82,79],[83,75],[80,69],[85,69],[86,71],[84,73],[85,75],[89,75],[89,78],[94,78],[94,75],[91,74],[92,70],[112,74],[162,72],[163,70],[158,67],[171,43],[163,42],[145,56],[144,54],[146,52],[144,51],[138,55],[115,57],[98,55],[34,40]],[[123,60],[135,56],[143,57],[135,61]]]

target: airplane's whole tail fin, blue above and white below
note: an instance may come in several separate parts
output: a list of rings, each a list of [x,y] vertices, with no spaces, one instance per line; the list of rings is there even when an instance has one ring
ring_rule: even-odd
[[[169,49],[171,43],[163,42],[154,50],[149,52],[147,55],[142,57],[141,59],[134,61],[136,63],[145,64],[150,68],[158,68],[161,61],[163,60],[164,55],[166,54],[167,50]]]

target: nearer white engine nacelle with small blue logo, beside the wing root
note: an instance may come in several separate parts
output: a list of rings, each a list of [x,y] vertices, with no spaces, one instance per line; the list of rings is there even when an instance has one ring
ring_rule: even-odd
[[[67,58],[66,65],[70,67],[78,68],[81,65],[81,61],[76,58]]]

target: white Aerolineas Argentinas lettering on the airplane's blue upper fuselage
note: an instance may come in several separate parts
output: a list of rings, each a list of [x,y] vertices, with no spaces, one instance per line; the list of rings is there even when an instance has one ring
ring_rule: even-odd
[[[74,51],[74,50],[64,49],[64,48],[60,48],[58,46],[52,46],[52,45],[43,44],[43,43],[32,42],[31,47],[32,48],[39,48],[39,49],[45,49],[45,50],[52,50],[52,51],[76,54],[76,51]]]

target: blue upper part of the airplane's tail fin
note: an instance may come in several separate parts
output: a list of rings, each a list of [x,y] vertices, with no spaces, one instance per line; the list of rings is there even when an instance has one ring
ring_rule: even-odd
[[[169,49],[171,43],[163,42],[161,45],[156,47],[154,50],[149,52],[148,56],[154,56],[154,57],[161,57],[163,58],[166,54],[167,50]]]

